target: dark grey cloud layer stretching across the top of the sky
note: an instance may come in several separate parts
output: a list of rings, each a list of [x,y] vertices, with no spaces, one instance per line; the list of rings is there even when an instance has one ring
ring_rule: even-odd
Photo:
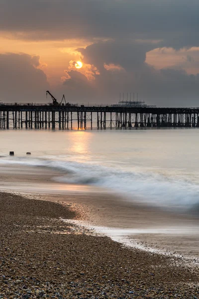
[[[1,0],[0,30],[18,38],[152,38],[199,44],[198,0]]]

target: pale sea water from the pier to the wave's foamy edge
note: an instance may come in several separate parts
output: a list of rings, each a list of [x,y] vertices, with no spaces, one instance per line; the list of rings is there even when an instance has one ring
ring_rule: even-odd
[[[0,163],[61,169],[62,183],[97,185],[128,200],[199,204],[198,129],[0,131],[0,155]]]

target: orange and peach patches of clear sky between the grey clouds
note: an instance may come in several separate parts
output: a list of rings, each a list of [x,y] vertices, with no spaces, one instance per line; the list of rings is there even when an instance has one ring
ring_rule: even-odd
[[[13,52],[13,53],[27,53],[30,55],[39,55],[42,70],[47,75],[48,82],[52,87],[60,84],[61,78],[65,74],[65,70],[70,70],[72,67],[70,61],[81,60],[81,54],[75,51],[79,47],[86,47],[91,44],[88,40],[64,40],[64,41],[24,41],[18,39],[8,39],[0,37],[0,53]],[[193,61],[188,61],[187,57],[192,55],[195,57]],[[146,62],[156,69],[177,66],[185,69],[188,73],[199,73],[198,61],[199,48],[193,47],[191,49],[181,49],[176,51],[172,48],[157,48],[149,51],[146,54]],[[95,66],[94,66],[95,67]],[[108,67],[114,69],[114,65]],[[91,65],[84,65],[79,69],[83,74],[86,74],[90,79],[92,75],[89,74]],[[115,66],[115,68],[120,68]],[[88,75],[89,74],[89,75]],[[62,79],[63,80],[63,79]]]

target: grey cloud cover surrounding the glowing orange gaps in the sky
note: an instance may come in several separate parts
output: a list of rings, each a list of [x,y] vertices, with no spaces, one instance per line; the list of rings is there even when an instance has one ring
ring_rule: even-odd
[[[155,70],[145,62],[146,53],[158,47],[199,46],[198,11],[198,0],[1,0],[0,30],[25,40],[90,40],[90,46],[78,51],[100,75],[89,81],[72,70],[70,79],[57,90],[74,102],[115,102],[119,92],[134,91],[148,104],[199,106],[199,75],[188,75],[175,66]],[[36,64],[32,59],[1,55],[5,100],[12,94],[25,99],[30,93],[34,98],[46,88],[38,58]],[[104,64],[121,68],[107,70]],[[6,91],[10,83],[13,87]]]

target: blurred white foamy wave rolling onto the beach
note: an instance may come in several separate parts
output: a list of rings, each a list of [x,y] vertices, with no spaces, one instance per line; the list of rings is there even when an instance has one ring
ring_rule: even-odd
[[[0,159],[0,163],[44,166],[60,170],[54,179],[61,183],[96,185],[122,194],[128,200],[170,208],[191,209],[199,206],[199,184],[186,175],[157,173],[151,169],[131,170],[105,167],[96,163],[83,163],[49,158]]]

